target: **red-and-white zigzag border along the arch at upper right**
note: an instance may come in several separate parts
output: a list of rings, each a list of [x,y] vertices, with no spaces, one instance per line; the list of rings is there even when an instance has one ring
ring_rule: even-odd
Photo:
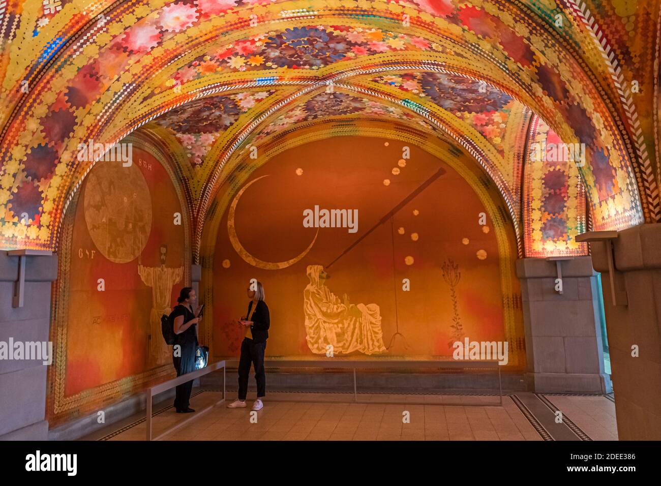
[[[622,75],[622,70],[619,67],[615,52],[611,50],[606,37],[603,35],[602,29],[597,24],[590,9],[582,0],[564,0],[564,3],[576,13],[576,17],[580,19],[590,32],[590,36],[594,40],[597,48],[602,53],[608,71],[613,79],[613,84],[617,93],[619,93],[622,107],[627,115],[629,128],[633,134],[633,142],[636,145],[636,151],[640,161],[640,168],[642,169],[642,177],[644,177],[644,192],[646,199],[646,209],[650,213],[649,218],[652,222],[661,222],[661,200],[659,195],[659,188],[654,177],[654,169],[647,151],[647,144],[642,136],[641,121],[638,118],[636,105],[631,97],[631,91],[625,87],[625,79]],[[645,207],[645,206],[644,206]]]

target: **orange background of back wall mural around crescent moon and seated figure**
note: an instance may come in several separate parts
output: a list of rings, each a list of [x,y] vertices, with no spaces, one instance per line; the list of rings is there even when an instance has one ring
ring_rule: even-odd
[[[231,321],[245,313],[251,278],[264,284],[270,308],[266,354],[313,356],[303,313],[307,266],[331,263],[438,167],[444,167],[446,174],[397,212],[392,226],[390,221],[380,225],[327,268],[331,278],[326,286],[340,299],[348,294],[353,304],[379,305],[383,343],[388,348],[382,354],[449,356],[453,305],[441,266],[452,259],[461,272],[457,310],[465,336],[476,341],[504,339],[500,255],[490,218],[488,230],[478,223],[479,213],[485,211],[483,204],[453,169],[422,149],[410,147],[410,159],[400,167],[402,145],[391,141],[386,146],[383,140],[358,137],[309,143],[284,151],[249,177],[253,181],[268,175],[251,185],[237,205],[237,234],[254,257],[278,262],[301,253],[317,231],[303,227],[303,210],[315,204],[327,209],[357,208],[358,232],[322,228],[301,261],[282,270],[263,270],[243,261],[233,249],[226,211],[214,254],[217,356],[238,354],[242,335]],[[398,175],[393,174],[395,168]],[[404,234],[399,233],[400,227]],[[412,233],[417,233],[417,241]],[[467,244],[463,239],[468,239]],[[486,259],[477,257],[479,251],[486,253]],[[412,257],[413,263],[407,265],[406,257]],[[512,261],[503,264],[512,265]],[[403,291],[404,278],[410,280],[408,292]],[[516,292],[517,284],[512,282]],[[398,329],[404,339],[393,339]]]

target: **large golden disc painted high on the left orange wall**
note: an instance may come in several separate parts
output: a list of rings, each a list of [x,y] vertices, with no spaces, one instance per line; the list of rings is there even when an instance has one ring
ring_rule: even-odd
[[[151,195],[136,165],[99,162],[87,177],[85,223],[98,251],[114,263],[128,263],[147,245]]]

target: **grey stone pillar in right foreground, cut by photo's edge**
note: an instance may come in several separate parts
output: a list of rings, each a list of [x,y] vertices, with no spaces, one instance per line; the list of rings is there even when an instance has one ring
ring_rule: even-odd
[[[625,229],[613,240],[616,290],[626,292],[626,305],[613,305],[607,243],[590,243],[590,249],[602,272],[617,434],[620,440],[660,440],[661,224]]]

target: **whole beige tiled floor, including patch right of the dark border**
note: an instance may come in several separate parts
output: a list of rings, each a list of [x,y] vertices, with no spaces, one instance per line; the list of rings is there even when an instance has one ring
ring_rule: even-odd
[[[198,391],[191,397],[191,406],[199,411],[221,396],[219,391]],[[227,398],[233,400],[235,396],[235,392],[228,393]],[[541,397],[550,402],[550,408],[563,411],[584,440],[617,440],[615,405],[607,397]],[[350,393],[269,393],[270,401],[265,401],[264,409],[257,413],[256,423],[251,422],[251,399],[246,409],[227,409],[221,403],[197,417],[177,414],[169,403],[161,403],[155,406],[153,437],[192,417],[165,434],[163,440],[542,440],[541,434],[545,434],[544,430],[541,434],[535,430],[509,395],[503,397],[502,407],[460,405],[497,402],[498,397],[492,395],[359,394],[361,401],[422,401],[429,405],[348,403],[352,398]],[[405,411],[409,423],[403,422]],[[531,420],[537,422],[535,417]],[[134,417],[87,439],[144,440],[145,430],[144,420]]]

